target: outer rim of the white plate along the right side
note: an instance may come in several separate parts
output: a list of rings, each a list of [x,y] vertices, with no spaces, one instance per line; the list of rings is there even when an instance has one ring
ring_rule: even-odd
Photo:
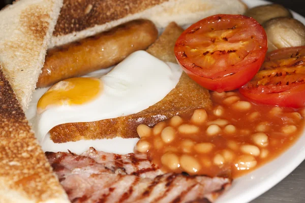
[[[249,8],[270,4],[266,1],[243,0]],[[293,17],[305,24],[305,18],[291,11]],[[243,203],[258,197],[288,176],[305,159],[305,132],[296,143],[275,160],[257,170],[237,178],[232,187],[222,194],[217,203]]]

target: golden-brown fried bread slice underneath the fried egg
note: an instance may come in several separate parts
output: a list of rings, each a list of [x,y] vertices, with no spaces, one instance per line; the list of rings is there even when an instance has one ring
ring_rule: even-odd
[[[175,62],[174,44],[182,31],[181,27],[170,23],[160,38],[147,49],[147,52],[165,61]],[[81,139],[137,138],[136,128],[139,124],[154,126],[174,115],[210,107],[208,91],[190,79],[187,74],[182,73],[178,84],[171,92],[157,104],[139,113],[101,121],[57,125],[50,130],[50,138],[55,143]]]

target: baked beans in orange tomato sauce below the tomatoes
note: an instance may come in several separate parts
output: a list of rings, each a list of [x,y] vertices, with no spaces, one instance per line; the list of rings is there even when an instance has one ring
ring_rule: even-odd
[[[211,92],[211,99],[212,109],[139,126],[135,150],[166,172],[236,178],[279,156],[302,133],[305,109],[254,104],[238,92]]]

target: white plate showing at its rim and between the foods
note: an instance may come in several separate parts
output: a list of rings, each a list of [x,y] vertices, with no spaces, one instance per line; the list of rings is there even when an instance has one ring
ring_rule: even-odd
[[[269,2],[260,0],[243,0],[243,2],[245,2],[249,8],[258,5],[270,4]],[[292,13],[294,18],[305,24],[304,17],[293,11]],[[100,74],[99,72],[97,73]],[[104,72],[102,74],[104,74]],[[45,90],[41,89],[34,94],[33,100],[29,108],[34,111],[26,112],[26,116],[28,119],[31,119],[35,116],[37,101]],[[120,138],[108,141],[100,140],[99,142],[86,141],[85,143],[79,143],[79,146],[82,147],[82,149],[79,149],[80,151],[78,153],[81,153],[85,150],[85,148],[90,146],[94,146],[98,150],[103,150],[106,152],[132,152],[134,144],[137,142],[137,139],[131,139],[128,141],[129,142],[127,143],[126,140]],[[257,170],[245,176],[235,179],[233,181],[232,187],[220,196],[220,198],[217,200],[217,203],[249,202],[257,196],[261,195],[262,193],[266,192],[271,187],[275,186],[287,175],[289,175],[305,159],[305,146],[303,143],[305,143],[305,132],[303,132],[299,140],[293,146],[291,146],[278,158],[261,166]],[[72,143],[54,145],[49,140],[47,141],[47,143],[43,144],[43,149],[45,151],[54,151],[54,149],[56,149],[56,151],[67,151],[65,150],[67,149],[67,145],[69,149],[71,144]],[[73,143],[73,145],[75,145],[75,143]]]

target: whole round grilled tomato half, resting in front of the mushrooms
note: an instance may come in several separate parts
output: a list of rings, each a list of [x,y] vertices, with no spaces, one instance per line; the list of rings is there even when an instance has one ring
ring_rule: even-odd
[[[177,62],[201,86],[237,89],[260,69],[267,52],[263,27],[242,15],[214,15],[187,28],[174,48]]]

